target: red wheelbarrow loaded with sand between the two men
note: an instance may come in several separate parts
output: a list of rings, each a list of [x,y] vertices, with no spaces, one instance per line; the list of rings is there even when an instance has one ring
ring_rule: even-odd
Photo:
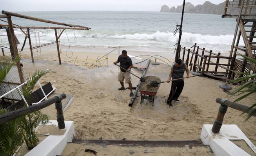
[[[156,87],[148,87],[148,84],[151,81],[161,82],[161,80],[156,76],[146,76],[144,77],[144,79],[145,79],[145,82],[142,82],[139,87],[139,91],[141,94],[140,103],[142,104],[144,99],[147,99],[147,100],[150,100],[152,102],[152,105],[154,106],[154,96],[156,95],[160,87],[160,84],[158,84],[158,86]]]

